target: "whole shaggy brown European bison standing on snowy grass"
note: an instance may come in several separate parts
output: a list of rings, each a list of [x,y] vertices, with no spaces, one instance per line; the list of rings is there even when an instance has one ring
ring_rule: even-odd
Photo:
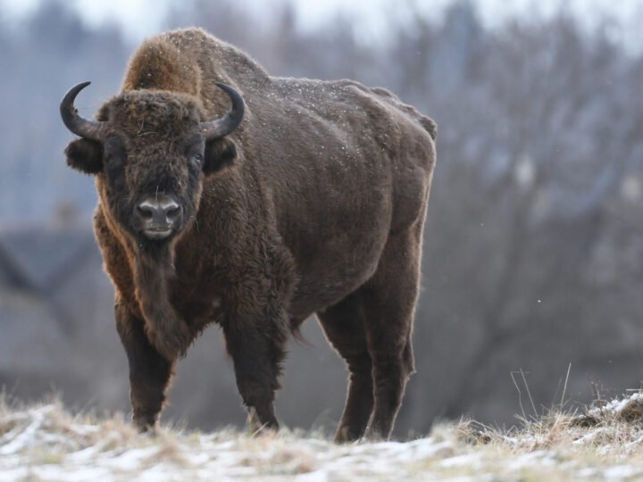
[[[315,313],[350,370],[337,440],[387,438],[413,373],[435,123],[382,88],[271,77],[201,29],[140,46],[96,120],[73,105],[87,85],[61,104],[81,137],[65,154],[96,175],[138,428],[213,322],[254,427],[278,428],[288,336]]]

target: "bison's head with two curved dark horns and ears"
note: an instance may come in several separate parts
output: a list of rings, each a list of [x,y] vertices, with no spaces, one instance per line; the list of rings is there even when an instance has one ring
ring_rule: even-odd
[[[223,137],[237,129],[244,102],[232,87],[232,109],[221,119],[201,121],[195,97],[165,91],[132,90],[113,97],[86,120],[71,90],[61,103],[67,129],[80,136],[67,146],[68,164],[96,174],[104,209],[139,246],[165,245],[196,216],[204,175],[236,155]]]

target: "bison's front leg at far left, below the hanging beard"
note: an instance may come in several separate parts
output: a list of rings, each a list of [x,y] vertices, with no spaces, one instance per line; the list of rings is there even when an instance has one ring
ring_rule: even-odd
[[[132,420],[144,432],[156,426],[170,385],[173,362],[164,358],[146,337],[143,320],[119,302],[114,306],[116,328],[129,361],[129,399]]]

